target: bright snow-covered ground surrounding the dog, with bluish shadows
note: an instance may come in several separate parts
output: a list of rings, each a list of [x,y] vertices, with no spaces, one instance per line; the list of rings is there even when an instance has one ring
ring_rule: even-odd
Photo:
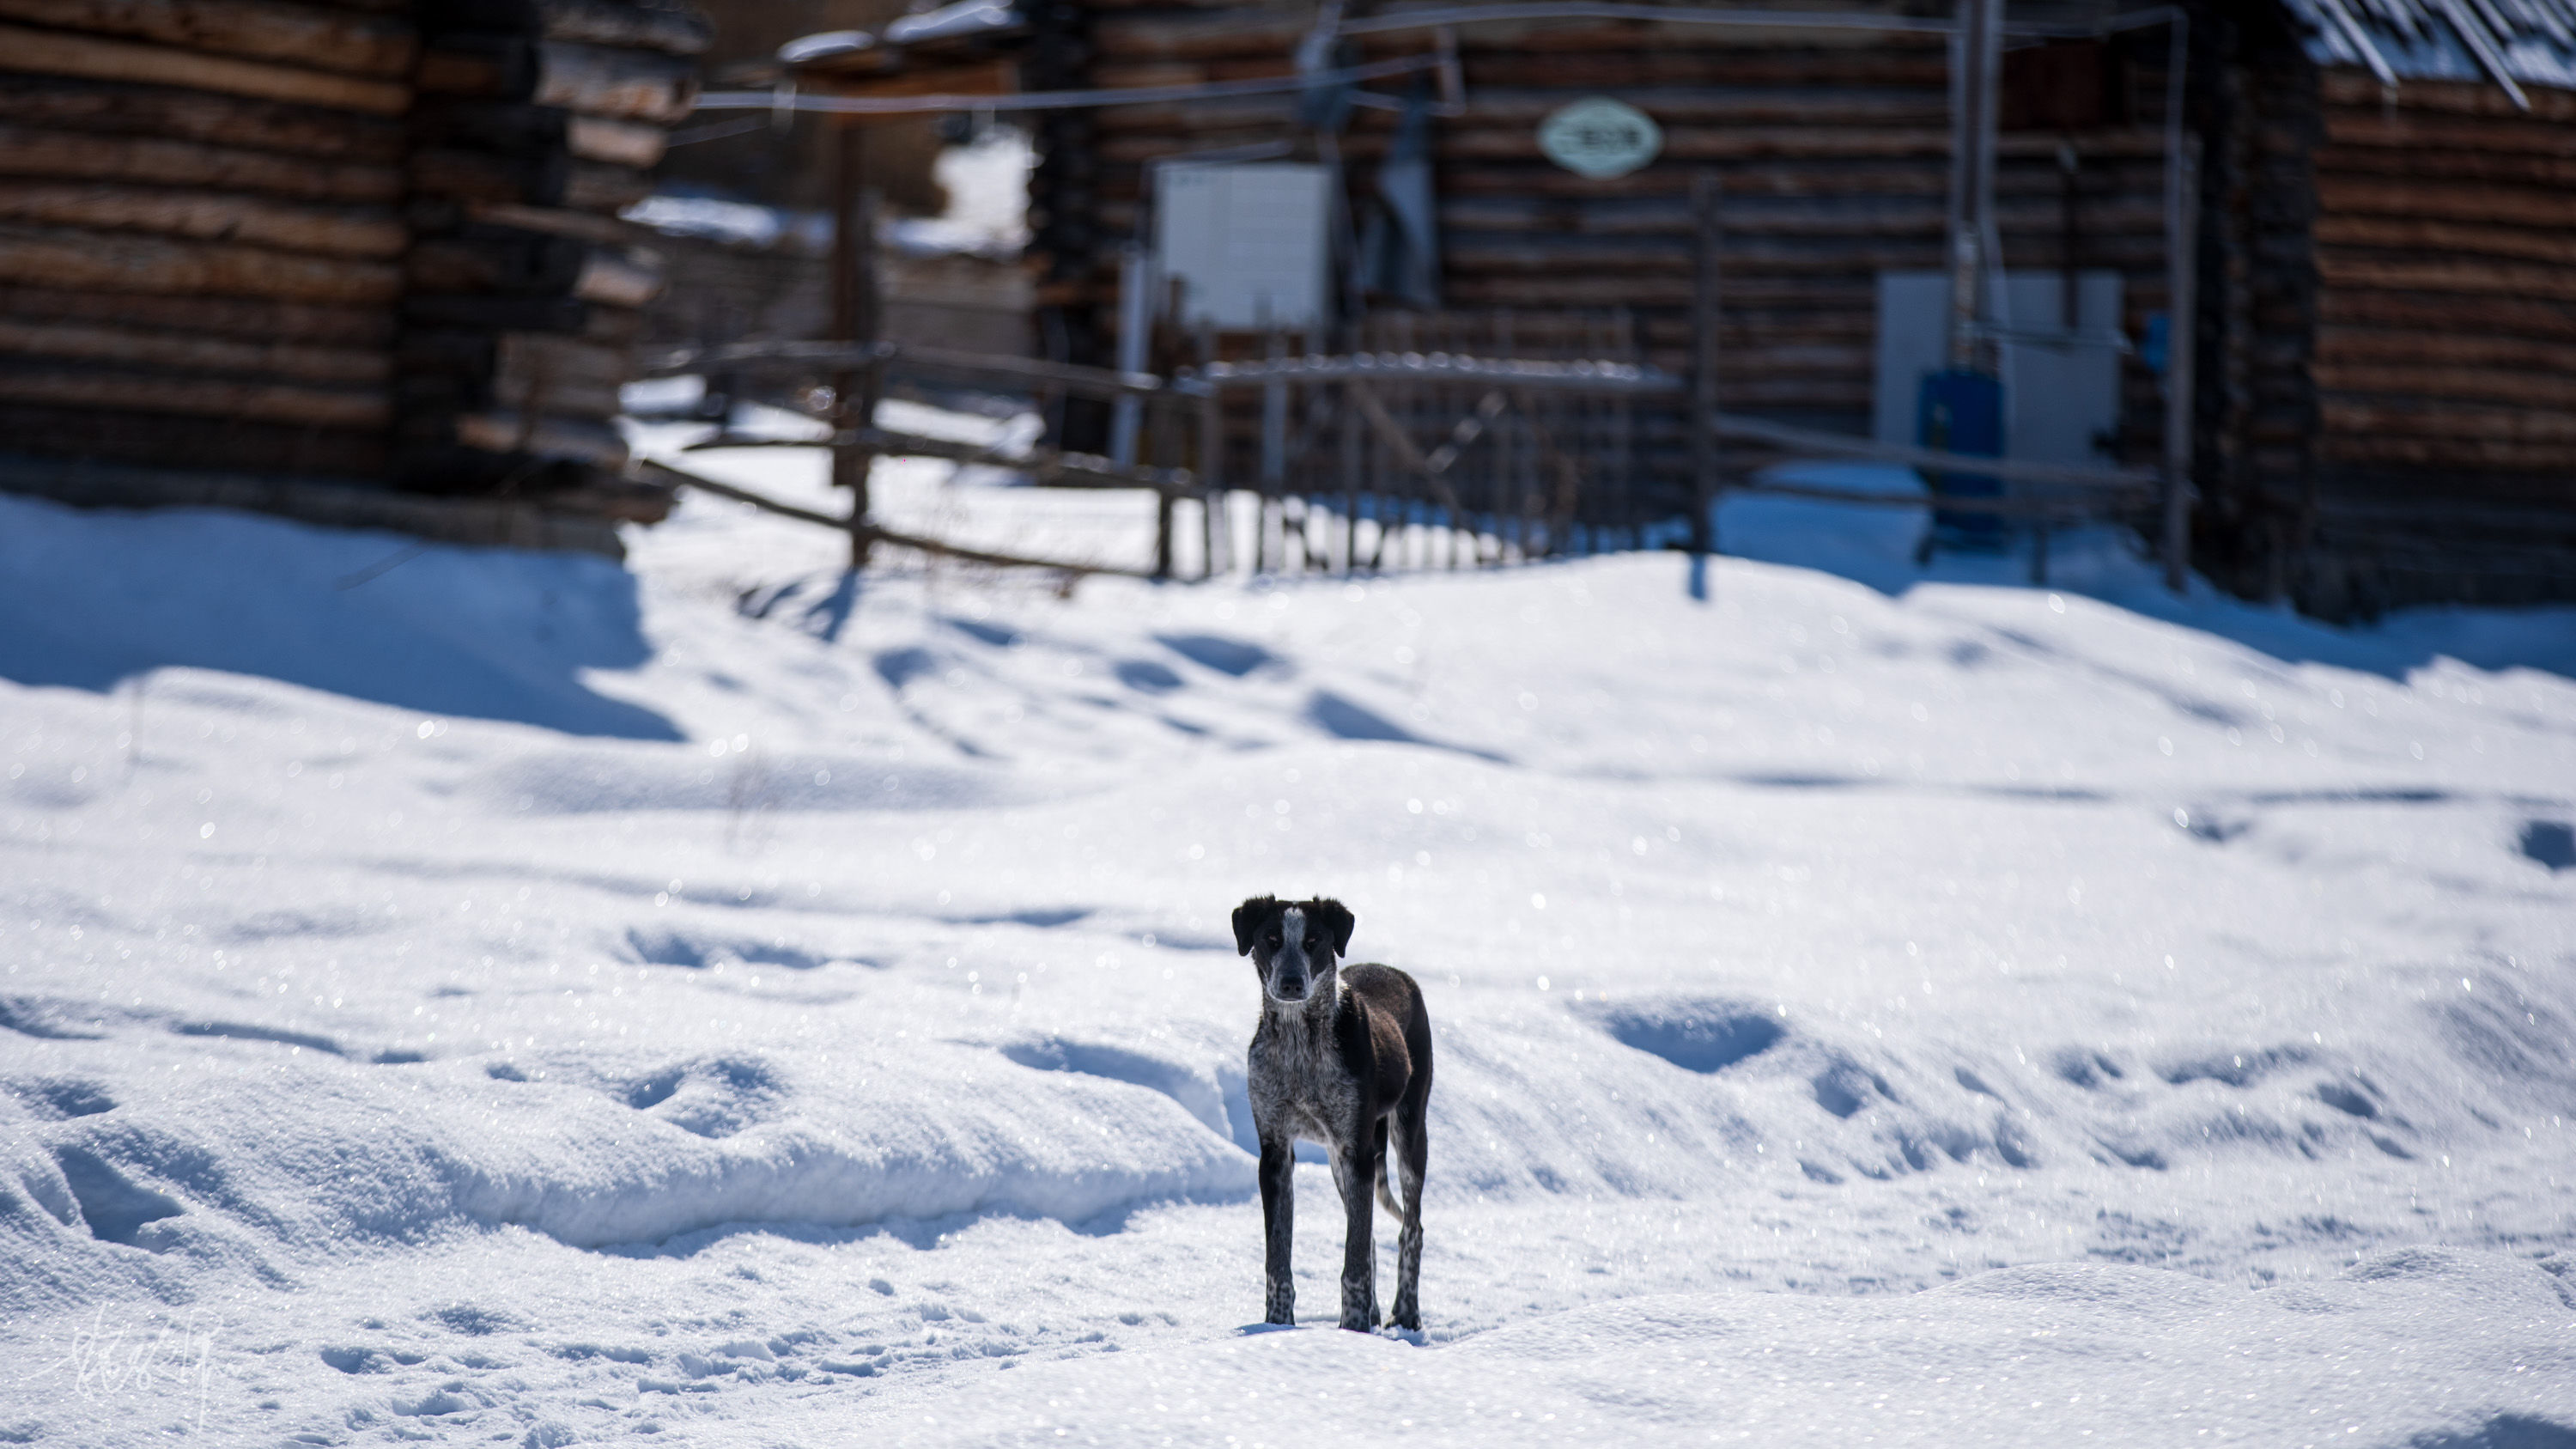
[[[2576,1444],[2576,611],[1919,526],[1059,596],[0,500],[0,1441]],[[1419,1336],[1249,1328],[1252,892],[1430,993]]]

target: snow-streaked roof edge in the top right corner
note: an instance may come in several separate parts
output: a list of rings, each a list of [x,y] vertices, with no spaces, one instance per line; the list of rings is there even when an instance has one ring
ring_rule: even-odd
[[[2576,0],[2287,0],[2321,64],[2380,80],[2494,80],[2576,88]]]

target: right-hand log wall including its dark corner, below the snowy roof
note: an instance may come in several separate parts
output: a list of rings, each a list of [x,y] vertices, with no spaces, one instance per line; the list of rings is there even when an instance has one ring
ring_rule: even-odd
[[[2200,572],[2329,619],[2576,598],[2576,93],[2192,34]]]

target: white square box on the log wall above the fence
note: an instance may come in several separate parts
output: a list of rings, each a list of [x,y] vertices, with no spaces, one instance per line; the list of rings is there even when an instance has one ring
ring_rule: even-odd
[[[1329,183],[1321,165],[1164,165],[1154,178],[1154,260],[1182,284],[1182,325],[1321,322]]]

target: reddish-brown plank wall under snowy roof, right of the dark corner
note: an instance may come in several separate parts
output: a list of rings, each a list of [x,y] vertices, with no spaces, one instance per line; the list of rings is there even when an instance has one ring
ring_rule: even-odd
[[[2300,603],[2576,598],[2576,93],[2316,88]]]

